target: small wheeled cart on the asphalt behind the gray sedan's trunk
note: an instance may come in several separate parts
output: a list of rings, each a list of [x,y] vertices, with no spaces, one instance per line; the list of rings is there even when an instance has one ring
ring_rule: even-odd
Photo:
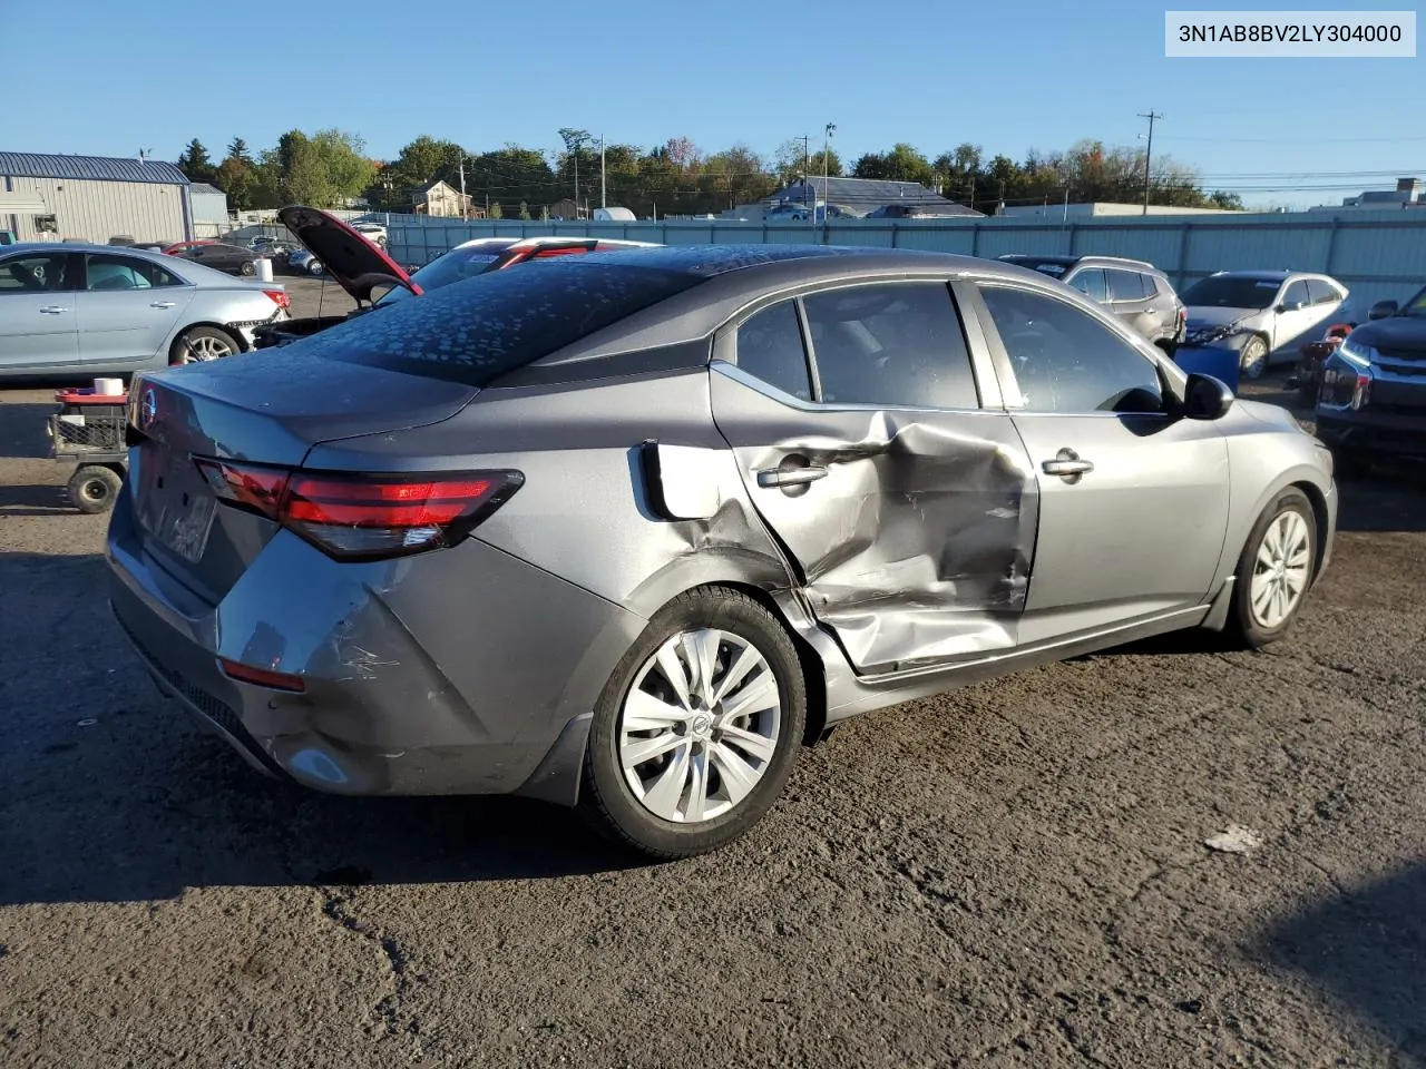
[[[67,485],[70,503],[80,512],[107,512],[124,485],[128,448],[128,395],[61,389],[58,412],[50,416],[50,455],[77,465]]]

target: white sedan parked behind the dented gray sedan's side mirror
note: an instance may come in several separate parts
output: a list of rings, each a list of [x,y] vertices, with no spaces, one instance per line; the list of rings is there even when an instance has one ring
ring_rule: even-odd
[[[1301,342],[1316,336],[1350,292],[1309,271],[1218,271],[1181,296],[1188,325],[1181,348],[1236,349],[1245,379],[1276,362],[1296,361]]]

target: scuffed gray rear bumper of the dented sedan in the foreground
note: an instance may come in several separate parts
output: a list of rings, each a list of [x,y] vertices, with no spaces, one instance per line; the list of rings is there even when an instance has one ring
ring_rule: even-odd
[[[645,624],[473,539],[398,569],[284,532],[207,606],[135,534],[124,493],[110,603],[163,691],[255,768],[335,794],[573,804],[589,714]],[[238,683],[218,657],[305,691]]]

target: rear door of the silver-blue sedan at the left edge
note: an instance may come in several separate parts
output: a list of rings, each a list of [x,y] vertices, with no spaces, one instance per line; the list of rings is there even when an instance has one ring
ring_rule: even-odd
[[[80,359],[123,368],[155,356],[193,295],[193,286],[148,259],[86,254],[77,294]]]

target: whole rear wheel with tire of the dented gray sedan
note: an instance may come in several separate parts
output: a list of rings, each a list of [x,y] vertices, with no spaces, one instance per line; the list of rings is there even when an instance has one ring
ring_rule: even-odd
[[[716,849],[777,801],[806,720],[777,619],[739,592],[692,590],[655,614],[605,687],[580,810],[646,857]]]

